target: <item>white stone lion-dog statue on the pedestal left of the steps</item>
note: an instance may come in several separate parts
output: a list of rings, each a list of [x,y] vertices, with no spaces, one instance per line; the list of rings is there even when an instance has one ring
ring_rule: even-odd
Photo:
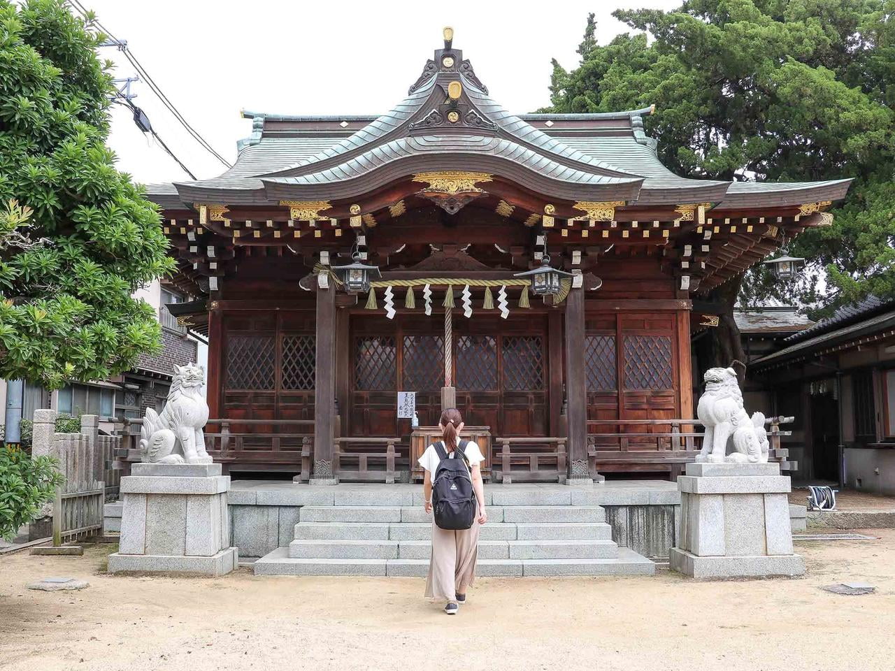
[[[209,405],[201,394],[205,369],[188,363],[174,370],[161,414],[146,409],[140,429],[141,459],[149,463],[211,463],[202,433],[209,420]]]

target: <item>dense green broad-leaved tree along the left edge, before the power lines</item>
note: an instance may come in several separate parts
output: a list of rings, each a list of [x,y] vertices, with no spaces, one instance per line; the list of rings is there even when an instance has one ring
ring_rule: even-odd
[[[158,349],[132,293],[174,267],[158,210],[106,147],[104,36],[62,0],[0,0],[0,378],[55,388]]]

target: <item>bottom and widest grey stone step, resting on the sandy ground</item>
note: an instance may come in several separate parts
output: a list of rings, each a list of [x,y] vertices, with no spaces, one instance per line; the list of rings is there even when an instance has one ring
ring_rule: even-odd
[[[256,575],[424,576],[428,559],[303,559],[277,548],[254,563]],[[633,550],[619,548],[611,559],[480,559],[476,574],[523,575],[652,575],[655,565]]]

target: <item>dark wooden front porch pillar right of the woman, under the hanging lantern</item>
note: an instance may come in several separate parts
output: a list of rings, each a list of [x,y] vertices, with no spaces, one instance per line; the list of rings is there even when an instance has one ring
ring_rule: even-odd
[[[568,483],[592,483],[587,463],[587,382],[584,372],[584,289],[566,299],[566,396],[568,399]]]

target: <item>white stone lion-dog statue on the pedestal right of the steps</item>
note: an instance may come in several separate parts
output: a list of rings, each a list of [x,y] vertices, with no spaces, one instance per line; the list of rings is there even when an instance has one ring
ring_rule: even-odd
[[[737,371],[732,368],[708,369],[704,380],[705,392],[699,398],[696,416],[705,425],[705,437],[703,450],[696,455],[696,461],[767,462],[768,434],[764,430],[764,415],[755,412],[750,418],[746,414]]]

